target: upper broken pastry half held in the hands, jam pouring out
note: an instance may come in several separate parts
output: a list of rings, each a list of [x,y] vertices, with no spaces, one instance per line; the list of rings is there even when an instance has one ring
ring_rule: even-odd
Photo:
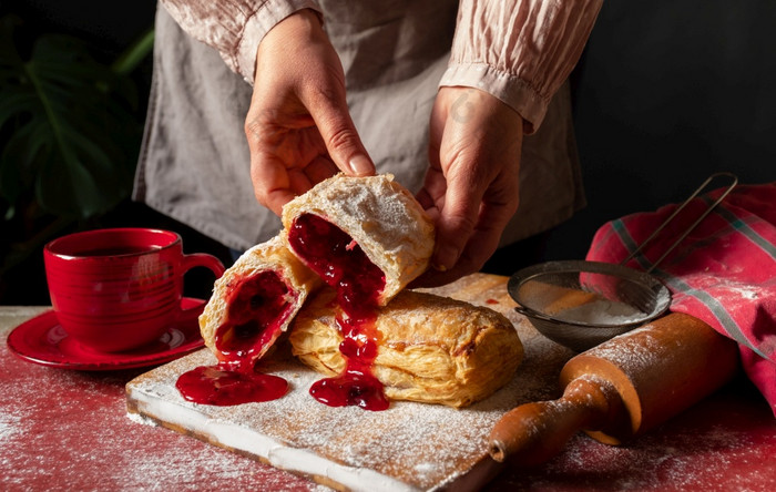
[[[283,208],[292,252],[344,306],[385,306],[426,271],[431,218],[390,174],[335,175]]]

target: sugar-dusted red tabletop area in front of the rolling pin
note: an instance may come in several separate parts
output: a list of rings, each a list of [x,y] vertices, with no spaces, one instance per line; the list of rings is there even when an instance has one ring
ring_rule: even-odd
[[[708,421],[691,412],[684,422],[680,420],[624,447],[605,445],[578,434],[544,469],[501,481],[496,490],[773,490],[776,469],[752,438],[729,424],[703,423],[706,427],[698,429],[687,423],[693,420]],[[770,441],[773,445],[773,435]]]

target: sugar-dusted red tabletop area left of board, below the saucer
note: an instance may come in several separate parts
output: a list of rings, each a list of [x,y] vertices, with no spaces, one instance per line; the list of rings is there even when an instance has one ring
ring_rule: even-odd
[[[0,335],[45,308],[3,308]],[[60,370],[0,348],[0,489],[328,490],[176,432],[126,418],[125,383],[143,369]],[[207,476],[207,483],[203,483]]]

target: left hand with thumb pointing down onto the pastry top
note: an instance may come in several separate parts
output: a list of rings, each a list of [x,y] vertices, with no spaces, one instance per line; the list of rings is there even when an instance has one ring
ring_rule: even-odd
[[[256,199],[277,215],[338,170],[375,173],[348,113],[341,63],[314,11],[289,16],[259,43],[245,134]]]

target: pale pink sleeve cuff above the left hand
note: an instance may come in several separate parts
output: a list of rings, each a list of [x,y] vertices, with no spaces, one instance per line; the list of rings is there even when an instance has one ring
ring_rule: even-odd
[[[315,0],[161,0],[194,39],[215,48],[226,65],[253,83],[256,50],[264,35],[302,9],[320,12]]]

